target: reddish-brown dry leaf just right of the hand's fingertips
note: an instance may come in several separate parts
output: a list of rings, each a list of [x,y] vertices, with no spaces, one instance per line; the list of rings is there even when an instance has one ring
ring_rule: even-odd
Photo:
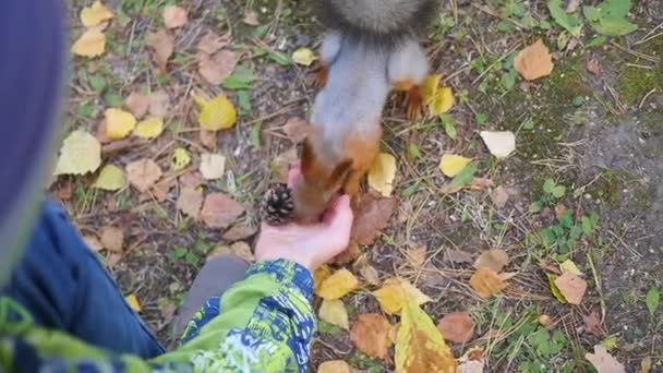
[[[373,244],[398,207],[396,198],[376,198],[363,194],[354,213],[351,238],[359,244]]]

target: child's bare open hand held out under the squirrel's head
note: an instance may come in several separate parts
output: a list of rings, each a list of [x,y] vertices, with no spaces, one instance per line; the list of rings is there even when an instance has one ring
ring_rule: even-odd
[[[298,171],[291,171],[289,184],[296,180]],[[257,261],[285,258],[303,265],[310,270],[341,253],[350,241],[352,228],[350,197],[342,195],[332,202],[332,206],[316,225],[290,224],[281,227],[263,225],[255,245]]]

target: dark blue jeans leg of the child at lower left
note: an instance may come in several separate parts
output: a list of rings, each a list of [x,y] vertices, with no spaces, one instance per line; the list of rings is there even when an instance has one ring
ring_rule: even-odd
[[[21,303],[36,324],[99,348],[145,359],[165,351],[53,202],[44,204],[23,258],[0,294]]]

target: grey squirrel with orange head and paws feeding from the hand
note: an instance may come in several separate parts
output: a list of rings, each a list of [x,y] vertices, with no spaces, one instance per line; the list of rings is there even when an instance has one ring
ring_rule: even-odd
[[[314,221],[339,192],[357,206],[361,180],[379,153],[382,111],[393,89],[407,115],[423,107],[429,62],[418,35],[431,0],[318,0],[328,31],[313,81],[320,88],[293,186],[294,219]]]

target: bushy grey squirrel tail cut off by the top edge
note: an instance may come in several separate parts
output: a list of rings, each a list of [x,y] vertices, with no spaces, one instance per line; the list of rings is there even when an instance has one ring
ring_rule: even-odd
[[[415,37],[439,0],[317,0],[323,23],[359,41],[390,45]]]

